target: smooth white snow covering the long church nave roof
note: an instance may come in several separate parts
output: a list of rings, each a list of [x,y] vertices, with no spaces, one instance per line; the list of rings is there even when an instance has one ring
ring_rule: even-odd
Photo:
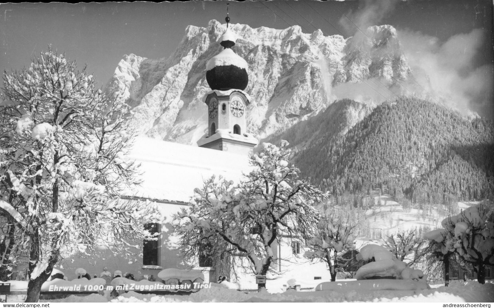
[[[129,158],[140,163],[143,172],[143,183],[130,195],[176,202],[188,202],[212,175],[238,183],[252,168],[247,155],[146,137],[136,138]]]

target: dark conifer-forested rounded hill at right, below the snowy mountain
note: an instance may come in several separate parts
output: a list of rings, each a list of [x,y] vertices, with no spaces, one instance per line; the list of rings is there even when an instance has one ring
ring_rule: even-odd
[[[492,197],[492,121],[401,97],[376,107],[346,134],[331,125],[312,129],[313,142],[294,163],[333,195],[380,188],[397,200],[443,204]]]

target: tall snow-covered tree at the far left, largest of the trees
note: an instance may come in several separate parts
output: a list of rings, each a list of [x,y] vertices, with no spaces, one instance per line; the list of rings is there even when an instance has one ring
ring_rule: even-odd
[[[119,197],[138,183],[124,159],[129,106],[108,96],[75,62],[49,49],[21,72],[4,73],[0,104],[0,247],[10,265],[28,263],[28,302],[64,257],[128,254],[161,220],[153,205]],[[5,263],[4,263],[5,264]]]

